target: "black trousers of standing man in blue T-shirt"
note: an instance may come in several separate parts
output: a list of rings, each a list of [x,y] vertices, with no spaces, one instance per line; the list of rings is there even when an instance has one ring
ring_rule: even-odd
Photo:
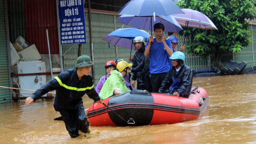
[[[161,84],[162,84],[166,74],[167,73],[151,74],[150,75],[150,82],[151,82],[151,86],[152,86],[152,92],[158,92],[158,89],[161,87]]]

